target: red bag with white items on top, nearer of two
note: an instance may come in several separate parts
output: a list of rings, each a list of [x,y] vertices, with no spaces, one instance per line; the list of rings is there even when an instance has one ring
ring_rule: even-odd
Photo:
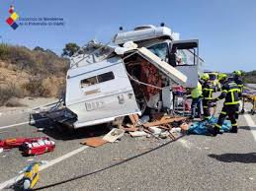
[[[24,143],[23,154],[26,156],[38,156],[47,152],[52,152],[55,148],[55,143],[48,140],[39,140],[34,143]]]

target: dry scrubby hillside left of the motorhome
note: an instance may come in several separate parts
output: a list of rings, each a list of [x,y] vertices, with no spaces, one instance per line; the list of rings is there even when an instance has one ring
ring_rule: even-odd
[[[68,60],[49,49],[0,43],[0,105],[10,97],[58,96]]]

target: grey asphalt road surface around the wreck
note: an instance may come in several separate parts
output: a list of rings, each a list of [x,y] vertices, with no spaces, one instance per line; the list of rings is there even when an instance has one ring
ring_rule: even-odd
[[[247,104],[246,108],[249,107]],[[36,158],[22,157],[16,149],[1,153],[0,187],[32,162],[31,159],[48,161],[36,186],[41,188],[105,168],[169,141],[126,135],[119,143],[94,149],[79,143],[86,137],[107,133],[104,127],[97,127],[97,132],[80,130],[72,136],[52,129],[38,132],[37,127],[29,124],[1,129],[28,118],[28,113],[0,116],[0,139],[46,135],[55,141],[55,151]],[[256,190],[255,123],[256,116],[240,115],[238,134],[185,136],[139,158],[44,190]],[[43,121],[37,126],[49,128],[51,124]]]

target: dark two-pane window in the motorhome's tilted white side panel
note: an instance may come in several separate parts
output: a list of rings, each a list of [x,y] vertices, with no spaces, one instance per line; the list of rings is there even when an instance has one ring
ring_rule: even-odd
[[[87,78],[81,81],[81,88],[86,88],[92,85],[103,83],[115,79],[113,72],[107,72],[98,76]]]

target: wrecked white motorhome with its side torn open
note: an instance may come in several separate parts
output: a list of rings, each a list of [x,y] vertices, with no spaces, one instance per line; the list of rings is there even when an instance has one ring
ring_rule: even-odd
[[[107,45],[90,41],[70,59],[61,120],[80,128],[172,113],[173,87],[195,88],[200,62],[198,40],[179,40],[166,27],[119,32]]]

